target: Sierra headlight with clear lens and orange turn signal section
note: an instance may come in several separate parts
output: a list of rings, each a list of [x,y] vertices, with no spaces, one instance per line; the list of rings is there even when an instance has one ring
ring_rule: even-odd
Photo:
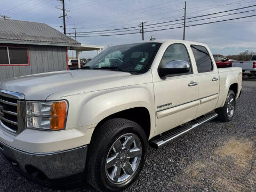
[[[68,103],[27,101],[27,127],[41,130],[65,129]]]

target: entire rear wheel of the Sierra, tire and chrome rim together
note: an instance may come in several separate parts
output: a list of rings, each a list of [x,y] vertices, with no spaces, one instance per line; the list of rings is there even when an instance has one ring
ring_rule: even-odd
[[[229,90],[225,105],[221,108],[216,109],[218,119],[223,122],[231,121],[234,116],[236,107],[236,95],[234,91]]]

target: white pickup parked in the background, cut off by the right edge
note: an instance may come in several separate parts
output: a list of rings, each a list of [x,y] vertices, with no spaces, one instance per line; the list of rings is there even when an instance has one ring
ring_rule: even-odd
[[[233,61],[232,67],[241,67],[243,74],[248,77],[256,76],[256,55],[252,55],[250,61]]]

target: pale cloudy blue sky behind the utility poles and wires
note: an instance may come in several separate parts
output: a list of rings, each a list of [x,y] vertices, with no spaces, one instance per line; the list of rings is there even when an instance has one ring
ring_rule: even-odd
[[[187,0],[186,25],[189,26],[205,22],[256,15],[256,6],[252,5],[256,5],[256,0]],[[63,29],[60,27],[63,26],[63,19],[59,18],[62,15],[62,10],[57,9],[56,6],[62,8],[62,3],[58,0],[0,0],[0,15],[6,15],[14,20],[43,22],[63,33]],[[233,10],[246,6],[252,7],[209,15],[206,17],[189,19],[199,15]],[[183,28],[180,22],[182,22],[183,19],[184,7],[185,1],[183,0],[65,0],[65,8],[67,11],[69,11],[66,12],[66,31],[67,34],[74,33],[74,24],[76,24],[76,32],[78,33],[99,31],[94,32],[94,34],[91,33],[94,36],[137,33],[129,35],[96,37],[81,37],[85,36],[84,34],[77,35],[77,41],[82,44],[102,45],[108,47],[141,41],[142,35],[139,33],[139,24],[143,21],[147,22],[145,23],[146,40],[149,40],[151,35],[154,35],[156,39],[183,39]],[[238,14],[226,15],[231,13]],[[226,16],[207,19],[221,15]],[[198,19],[205,20],[193,21]],[[173,20],[180,21],[170,22]],[[151,25],[161,22],[164,23]],[[161,25],[169,26],[159,27]],[[146,33],[147,30],[174,27],[181,28],[151,31]],[[121,28],[129,28],[123,30],[132,31],[118,33],[113,33],[114,31],[102,31]],[[246,50],[256,52],[255,31],[256,17],[248,17],[224,22],[210,23],[207,25],[186,27],[185,38],[188,41],[200,42],[209,45],[213,54],[231,55],[238,54]],[[68,54],[69,57],[72,55],[75,56],[75,53],[72,53],[71,51],[69,51]],[[96,54],[96,51],[83,52],[81,57],[92,58]]]

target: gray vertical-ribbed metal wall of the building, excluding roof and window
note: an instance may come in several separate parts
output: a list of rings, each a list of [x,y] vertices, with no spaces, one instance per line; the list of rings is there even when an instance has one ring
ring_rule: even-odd
[[[0,66],[0,81],[50,71],[67,70],[66,47],[30,46],[30,66]]]

